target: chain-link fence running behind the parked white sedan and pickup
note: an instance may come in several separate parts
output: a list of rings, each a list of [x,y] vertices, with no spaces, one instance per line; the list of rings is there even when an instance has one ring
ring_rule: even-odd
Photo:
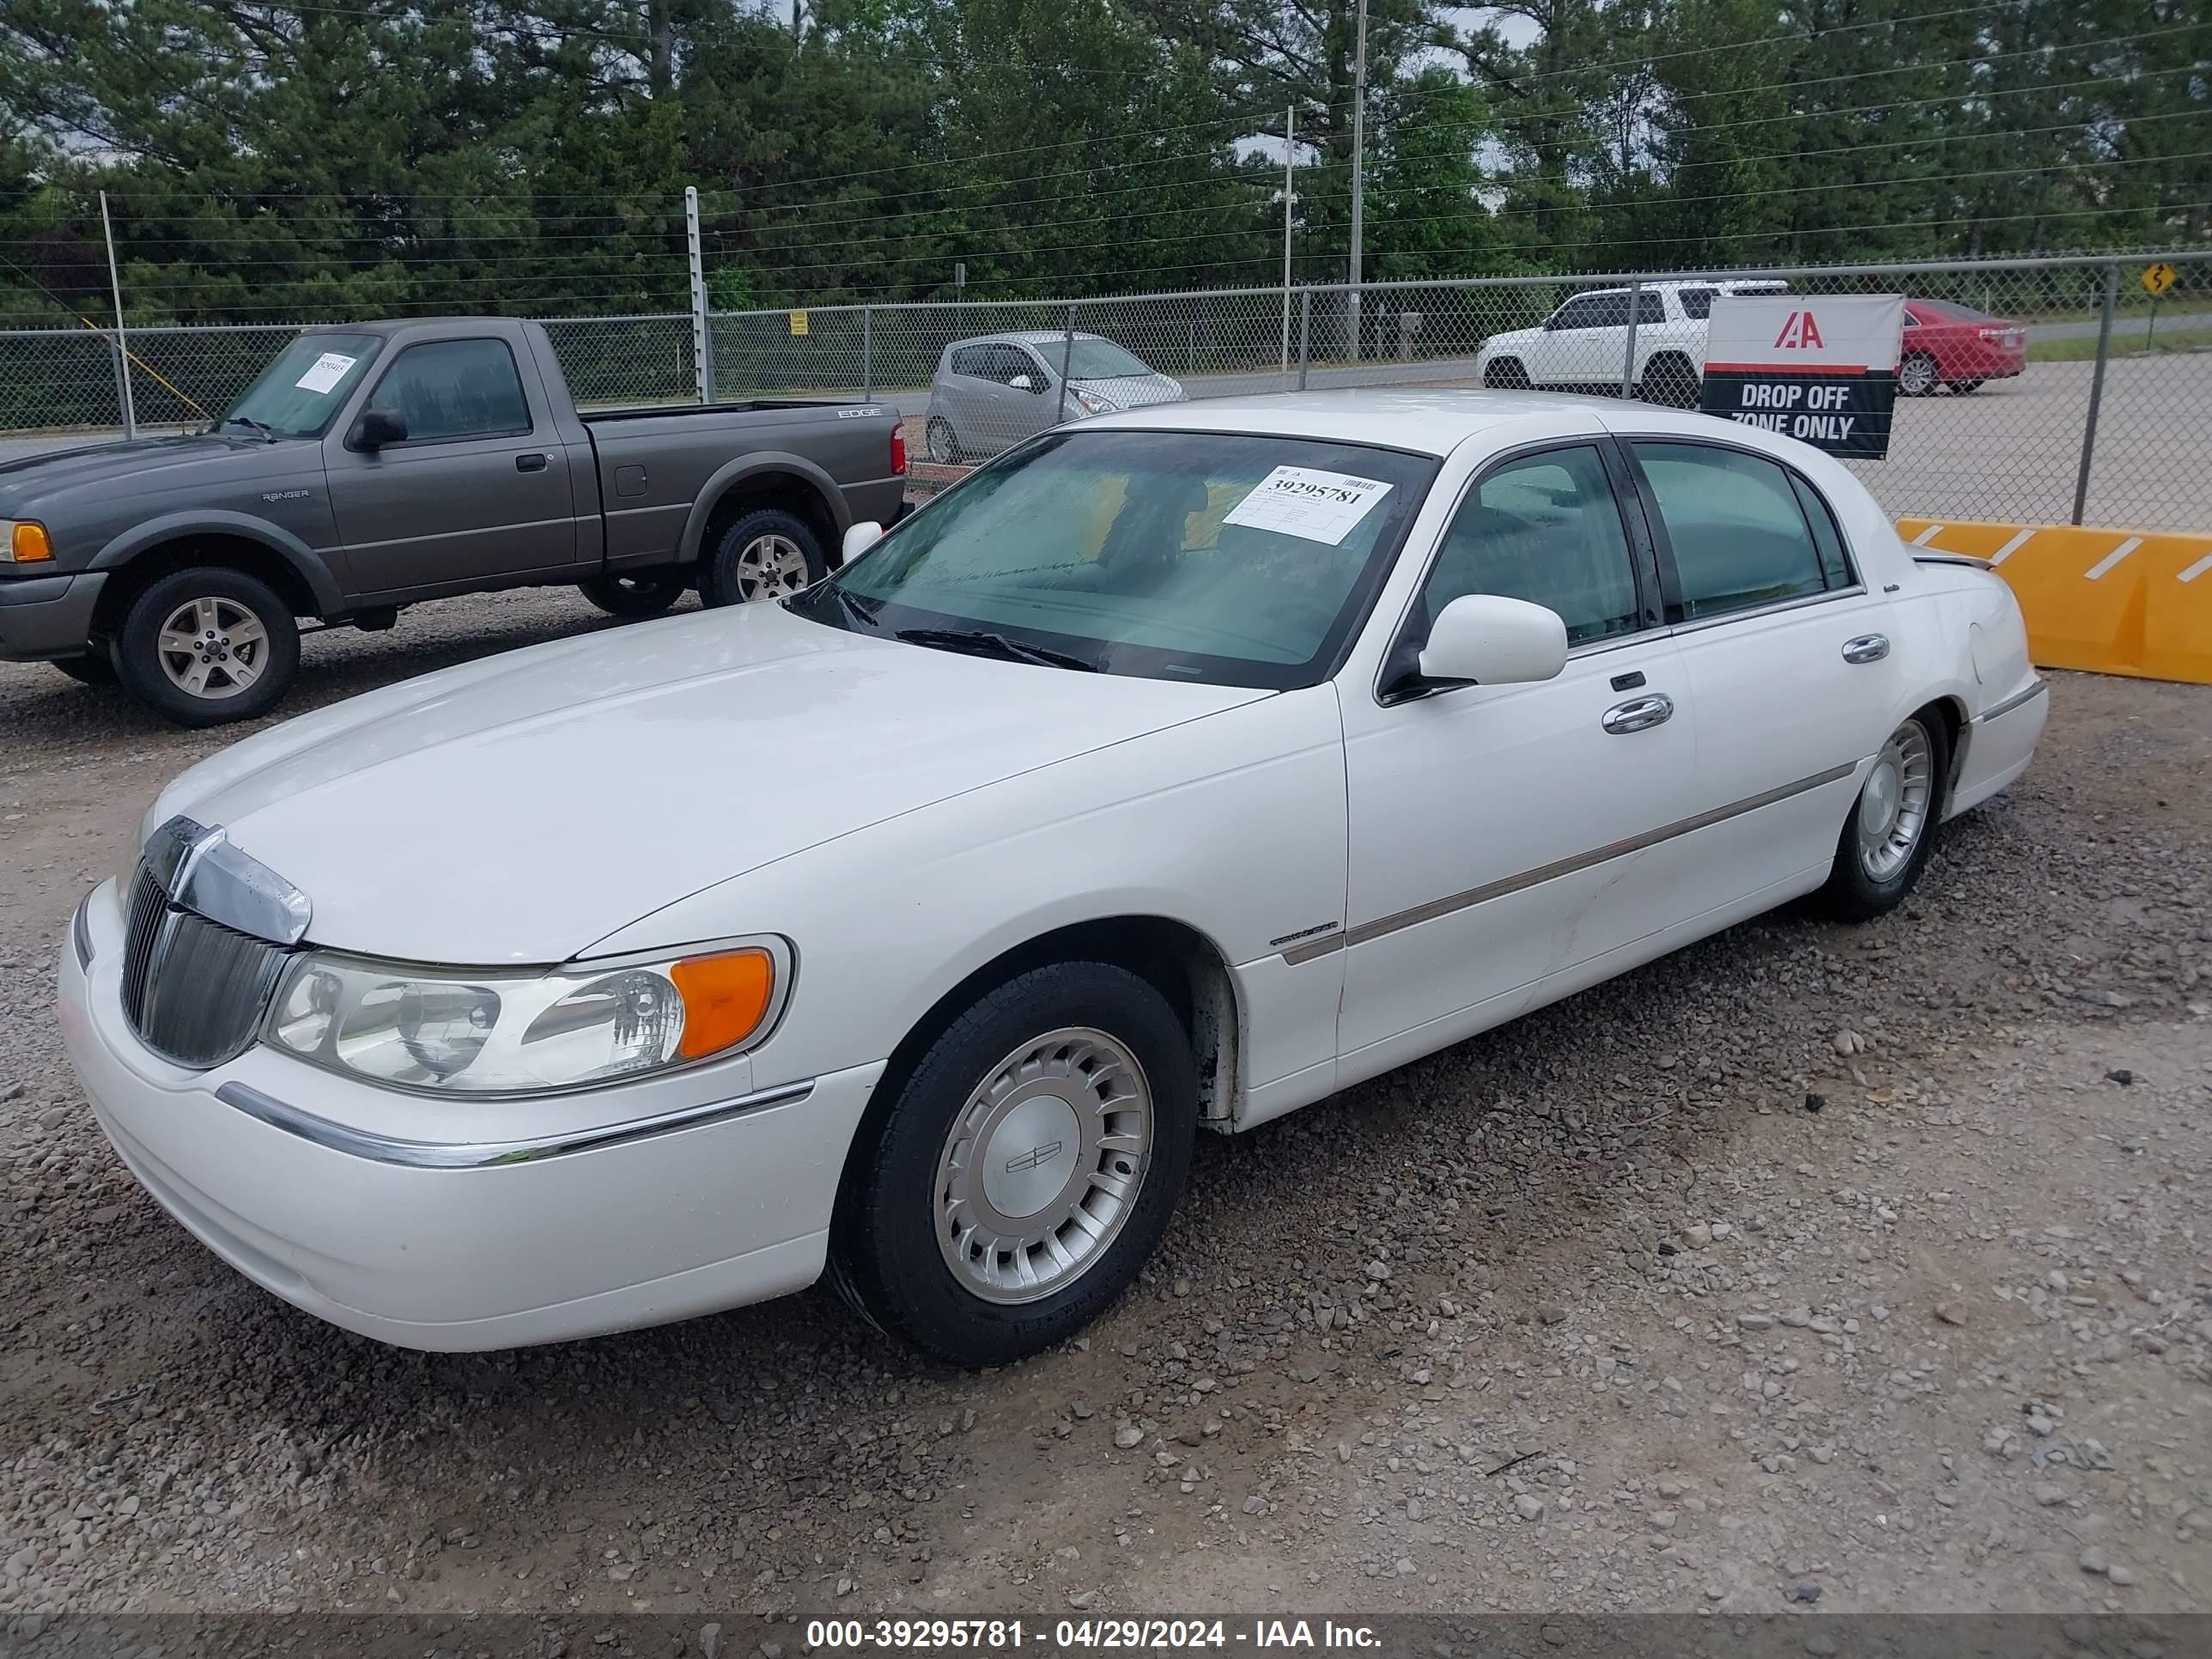
[[[2157,296],[2141,281],[2154,265],[2172,268]],[[929,487],[1060,420],[1179,396],[1489,385],[1694,405],[1705,310],[1739,285],[1909,296],[1889,456],[1849,462],[1893,515],[2212,529],[2208,252],[670,312],[546,330],[586,409],[891,403]],[[133,332],[139,422],[206,422],[294,332]],[[108,334],[0,332],[0,431],[111,429],[119,389]]]

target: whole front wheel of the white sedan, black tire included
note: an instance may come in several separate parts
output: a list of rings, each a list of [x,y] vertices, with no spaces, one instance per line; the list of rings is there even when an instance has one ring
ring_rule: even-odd
[[[1053,1091],[1055,1068],[1068,1093]],[[1159,991],[1106,962],[1031,969],[953,1020],[863,1130],[832,1276],[883,1332],[951,1365],[1037,1354],[1137,1279],[1183,1194],[1197,1126],[1190,1037]]]

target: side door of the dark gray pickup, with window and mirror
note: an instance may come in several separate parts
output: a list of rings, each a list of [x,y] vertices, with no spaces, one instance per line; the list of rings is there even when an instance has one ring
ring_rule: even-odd
[[[325,440],[330,504],[361,597],[575,571],[562,438],[513,347],[498,336],[422,341],[380,367],[363,409],[396,414],[407,436],[372,449],[356,420]]]

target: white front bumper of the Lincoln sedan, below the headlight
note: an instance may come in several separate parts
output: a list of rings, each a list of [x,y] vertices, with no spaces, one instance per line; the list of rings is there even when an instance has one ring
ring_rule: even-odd
[[[883,1075],[872,1064],[737,1088],[719,1102],[728,1113],[712,1113],[717,1075],[726,1088],[750,1077],[708,1068],[695,1075],[692,1124],[653,1128],[672,1115],[653,1079],[507,1102],[487,1119],[265,1048],[190,1073],[124,1020],[113,883],[86,898],[75,940],[62,947],[62,1037],[131,1172],[263,1290],[400,1347],[560,1343],[810,1285]],[[425,1135],[447,1110],[469,1130]],[[509,1133],[487,1135],[487,1121]],[[498,1157],[515,1146],[529,1150]]]

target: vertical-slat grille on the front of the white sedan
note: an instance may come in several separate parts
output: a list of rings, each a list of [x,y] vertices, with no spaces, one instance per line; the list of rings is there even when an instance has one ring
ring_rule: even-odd
[[[290,951],[168,902],[139,865],[124,933],[124,1018],[179,1066],[219,1066],[254,1040]]]

